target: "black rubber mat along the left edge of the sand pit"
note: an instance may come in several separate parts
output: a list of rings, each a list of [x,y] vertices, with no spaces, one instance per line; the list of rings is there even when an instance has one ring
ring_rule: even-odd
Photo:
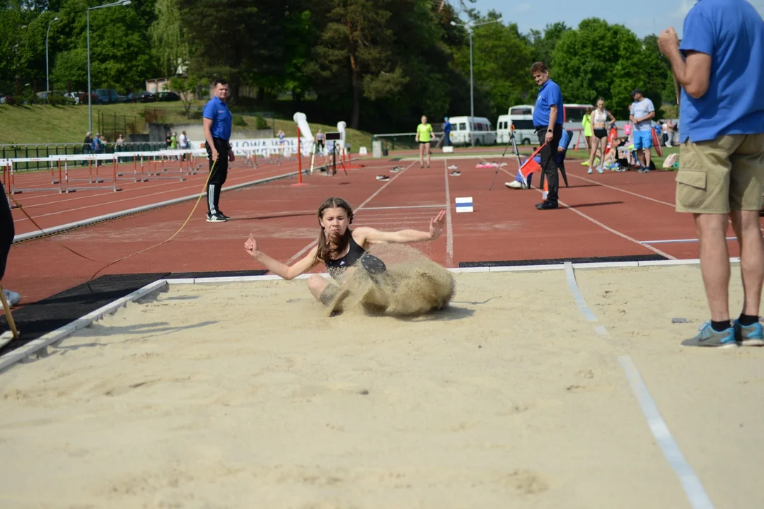
[[[91,282],[69,288],[34,304],[24,305],[18,311],[13,311],[13,319],[16,322],[16,328],[21,332],[21,339],[11,341],[0,348],[0,355],[70,324],[109,302],[135,292],[165,276],[167,272],[102,275]],[[0,333],[6,330],[9,330],[8,320],[3,315],[0,317]]]

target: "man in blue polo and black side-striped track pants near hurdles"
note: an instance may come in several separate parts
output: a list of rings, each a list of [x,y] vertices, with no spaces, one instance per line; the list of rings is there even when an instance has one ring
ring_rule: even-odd
[[[229,217],[218,208],[220,189],[228,177],[228,163],[235,160],[231,149],[231,125],[233,117],[225,99],[228,98],[228,82],[225,79],[215,81],[215,95],[204,107],[204,139],[211,175],[207,183],[207,222],[224,223]]]

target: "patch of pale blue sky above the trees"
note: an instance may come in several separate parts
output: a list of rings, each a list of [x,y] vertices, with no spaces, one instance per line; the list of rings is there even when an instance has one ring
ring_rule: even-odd
[[[764,0],[748,0],[764,16]],[[548,23],[565,21],[578,27],[585,18],[603,18],[608,23],[629,27],[638,37],[659,34],[669,27],[681,37],[682,20],[695,0],[478,0],[474,7],[487,13],[490,9],[503,14],[504,21],[517,24],[526,33],[532,28],[543,30]],[[451,2],[458,5],[458,2]]]

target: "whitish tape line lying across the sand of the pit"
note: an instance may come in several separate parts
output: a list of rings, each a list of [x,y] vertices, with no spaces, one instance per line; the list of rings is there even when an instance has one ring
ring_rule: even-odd
[[[597,317],[594,315],[594,312],[591,311],[588,304],[586,304],[584,296],[581,294],[581,289],[578,288],[578,283],[575,280],[575,272],[573,271],[573,264],[570,262],[565,262],[565,275],[568,279],[568,288],[570,288],[581,313],[584,314],[587,321],[597,322]],[[609,336],[604,325],[597,325],[594,327],[594,330],[600,336]],[[642,408],[650,431],[652,431],[652,436],[656,438],[656,442],[661,448],[663,456],[666,461],[669,462],[669,466],[672,467],[679,478],[679,482],[681,482],[681,486],[684,488],[685,495],[687,495],[691,506],[694,507],[694,509],[714,509],[714,504],[711,504],[711,499],[708,498],[701,480],[698,478],[698,475],[695,475],[694,470],[685,459],[685,456],[682,455],[679,446],[674,440],[674,437],[672,437],[669,426],[665,423],[665,420],[663,420],[655,401],[652,400],[649,391],[642,381],[642,376],[639,375],[639,370],[636,369],[631,357],[627,355],[619,356],[618,362],[620,362],[620,365],[623,367],[623,371],[626,372],[626,379],[629,380],[632,391],[634,392],[637,401],[639,401],[639,406]]]

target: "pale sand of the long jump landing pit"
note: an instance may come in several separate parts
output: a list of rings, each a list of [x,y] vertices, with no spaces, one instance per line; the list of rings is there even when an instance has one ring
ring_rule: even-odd
[[[678,345],[698,266],[575,277],[597,322],[562,270],[458,273],[409,318],[172,285],[0,374],[0,507],[762,507],[764,349]]]

